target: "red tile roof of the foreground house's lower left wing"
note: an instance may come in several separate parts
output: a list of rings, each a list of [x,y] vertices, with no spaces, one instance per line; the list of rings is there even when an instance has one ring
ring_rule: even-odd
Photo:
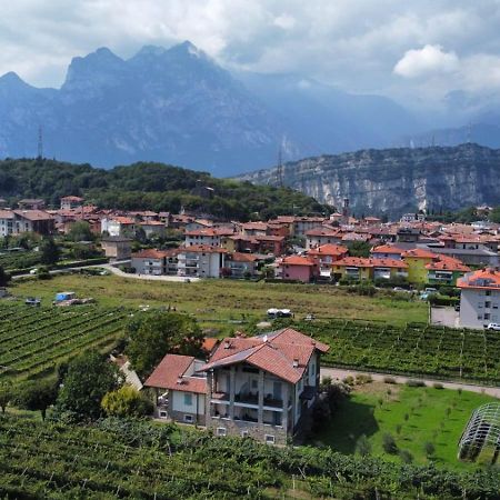
[[[184,376],[193,362],[194,358],[191,356],[167,354],[144,386],[204,394],[207,392],[204,378]],[[179,383],[179,379],[182,383]]]

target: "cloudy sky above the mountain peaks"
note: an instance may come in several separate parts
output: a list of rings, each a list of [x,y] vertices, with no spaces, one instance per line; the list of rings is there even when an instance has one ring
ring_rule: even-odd
[[[190,40],[228,68],[353,92],[500,94],[500,0],[2,0],[0,73],[59,87],[73,56]]]

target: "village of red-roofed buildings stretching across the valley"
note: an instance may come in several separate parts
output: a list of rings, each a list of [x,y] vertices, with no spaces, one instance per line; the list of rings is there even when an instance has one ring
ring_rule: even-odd
[[[94,241],[79,243],[141,278],[370,283],[453,307],[456,314],[437,312],[438,323],[500,329],[500,224],[484,220],[447,224],[428,221],[423,213],[407,213],[394,222],[356,219],[348,199],[341,213],[329,217],[251,222],[100,210],[74,196],[61,198],[59,209],[46,208],[43,200],[20,200],[13,210],[4,208],[4,200],[0,203],[0,234],[7,239],[23,233],[63,237],[83,222]],[[477,208],[483,216],[489,210]],[[7,248],[4,253],[13,250],[21,249]]]

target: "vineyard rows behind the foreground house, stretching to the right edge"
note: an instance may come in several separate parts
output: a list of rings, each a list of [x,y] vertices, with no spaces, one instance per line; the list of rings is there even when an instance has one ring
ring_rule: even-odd
[[[409,323],[301,322],[297,328],[329,343],[324,364],[450,380],[500,382],[500,334]]]

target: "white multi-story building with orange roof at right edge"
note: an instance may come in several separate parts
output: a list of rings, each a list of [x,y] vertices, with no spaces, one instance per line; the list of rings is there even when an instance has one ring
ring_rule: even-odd
[[[486,268],[457,281],[460,288],[460,324],[484,328],[500,322],[500,271]]]

